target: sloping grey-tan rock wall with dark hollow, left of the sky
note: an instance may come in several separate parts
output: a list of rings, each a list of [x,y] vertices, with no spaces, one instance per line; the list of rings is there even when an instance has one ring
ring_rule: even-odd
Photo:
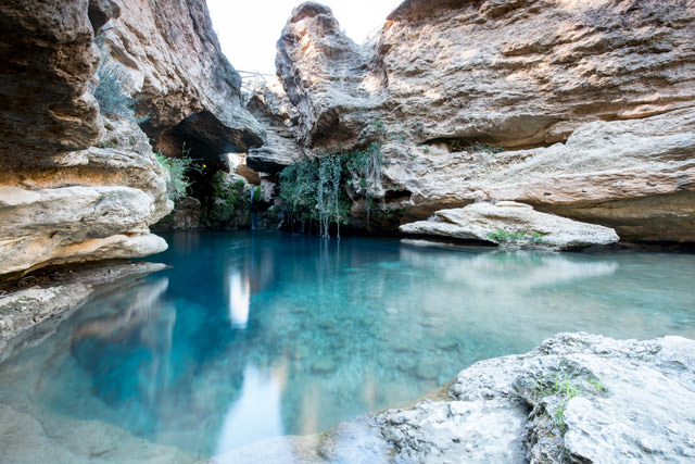
[[[263,143],[264,129],[241,105],[241,78],[222,53],[201,0],[127,1],[100,33],[123,64],[154,148],[211,167],[220,155]]]

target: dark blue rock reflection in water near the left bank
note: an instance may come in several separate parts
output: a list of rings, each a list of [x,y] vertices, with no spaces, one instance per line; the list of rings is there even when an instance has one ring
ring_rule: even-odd
[[[92,393],[149,427],[165,402],[176,308],[162,301],[168,279],[106,300],[117,312],[80,322],[71,352],[92,380]],[[123,308],[123,309],[121,309]],[[143,417],[144,415],[144,417]],[[148,417],[151,416],[151,417]]]

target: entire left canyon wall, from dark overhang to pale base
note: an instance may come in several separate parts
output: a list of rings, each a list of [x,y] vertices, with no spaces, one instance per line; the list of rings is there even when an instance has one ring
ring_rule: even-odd
[[[203,0],[0,13],[0,274],[163,251],[148,227],[172,202],[153,147],[216,166],[263,143]]]

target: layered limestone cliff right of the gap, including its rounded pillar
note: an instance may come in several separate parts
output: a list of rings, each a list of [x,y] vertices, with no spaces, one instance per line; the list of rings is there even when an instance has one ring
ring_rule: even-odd
[[[693,241],[694,36],[693,1],[407,0],[359,46],[308,2],[276,65],[305,148],[364,147],[383,127],[372,195],[402,223],[513,200]]]

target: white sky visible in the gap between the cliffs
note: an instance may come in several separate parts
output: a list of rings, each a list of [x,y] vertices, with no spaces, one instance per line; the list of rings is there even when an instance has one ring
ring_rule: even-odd
[[[323,0],[348,36],[362,43],[402,0]],[[275,74],[275,43],[301,0],[207,0],[222,51],[241,71]]]

